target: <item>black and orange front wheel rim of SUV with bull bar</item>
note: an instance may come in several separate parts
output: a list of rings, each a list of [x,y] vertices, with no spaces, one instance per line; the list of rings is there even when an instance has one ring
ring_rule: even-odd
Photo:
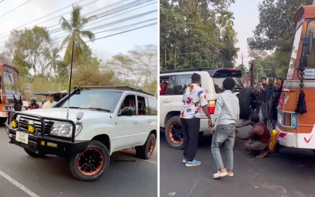
[[[104,165],[103,154],[96,148],[84,150],[78,158],[77,167],[79,171],[87,176],[98,173]]]

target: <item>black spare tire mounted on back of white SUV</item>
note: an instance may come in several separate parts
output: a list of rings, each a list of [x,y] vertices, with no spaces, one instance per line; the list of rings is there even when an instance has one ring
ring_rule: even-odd
[[[245,87],[238,94],[239,119],[248,120],[249,116],[254,112],[250,107],[251,92],[253,90],[255,90],[255,88]],[[255,113],[258,112],[259,114],[259,110],[260,110],[260,107],[257,107],[255,110]]]

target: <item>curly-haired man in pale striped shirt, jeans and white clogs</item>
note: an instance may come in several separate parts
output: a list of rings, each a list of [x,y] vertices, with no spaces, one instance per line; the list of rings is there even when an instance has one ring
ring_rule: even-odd
[[[225,91],[220,94],[215,104],[215,114],[213,122],[217,125],[212,137],[211,152],[217,166],[217,173],[213,178],[224,176],[233,177],[233,147],[235,140],[236,123],[239,120],[239,103],[238,97],[232,93],[235,81],[232,78],[226,78],[223,81]],[[213,133],[213,128],[211,129]],[[227,167],[223,166],[220,145],[225,143],[227,155]]]

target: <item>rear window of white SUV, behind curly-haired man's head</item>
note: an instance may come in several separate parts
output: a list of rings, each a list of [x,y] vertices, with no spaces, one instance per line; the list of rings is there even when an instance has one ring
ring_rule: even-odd
[[[220,94],[224,91],[223,89],[223,81],[227,77],[231,77],[235,81],[235,88],[234,92],[239,92],[243,87],[244,84],[241,80],[241,78],[238,77],[236,74],[218,74],[212,77],[214,86],[215,86],[215,93]]]

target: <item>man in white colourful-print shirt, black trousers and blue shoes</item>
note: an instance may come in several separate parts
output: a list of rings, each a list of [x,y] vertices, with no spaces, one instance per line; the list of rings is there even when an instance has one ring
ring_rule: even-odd
[[[208,111],[208,101],[204,90],[200,87],[201,76],[192,74],[192,84],[184,90],[184,106],[180,113],[180,123],[184,134],[184,159],[187,167],[200,165],[201,162],[195,160],[198,147],[198,135],[200,130],[200,109],[208,117],[208,125],[211,124],[211,116]]]

